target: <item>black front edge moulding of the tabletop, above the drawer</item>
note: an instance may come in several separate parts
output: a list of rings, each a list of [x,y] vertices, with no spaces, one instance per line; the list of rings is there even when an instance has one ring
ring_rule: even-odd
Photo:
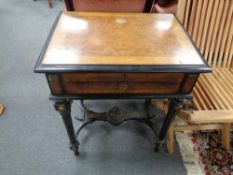
[[[63,72],[183,72],[207,73],[211,69],[204,65],[38,65],[35,73],[63,73]]]

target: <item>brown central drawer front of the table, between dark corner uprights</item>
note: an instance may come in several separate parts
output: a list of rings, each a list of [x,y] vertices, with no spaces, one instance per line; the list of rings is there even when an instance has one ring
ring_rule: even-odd
[[[169,94],[179,91],[183,73],[65,73],[66,94]]]

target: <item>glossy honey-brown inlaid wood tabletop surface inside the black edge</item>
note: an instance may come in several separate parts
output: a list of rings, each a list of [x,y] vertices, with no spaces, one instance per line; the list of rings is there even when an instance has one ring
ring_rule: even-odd
[[[43,65],[203,65],[170,14],[61,15]]]

